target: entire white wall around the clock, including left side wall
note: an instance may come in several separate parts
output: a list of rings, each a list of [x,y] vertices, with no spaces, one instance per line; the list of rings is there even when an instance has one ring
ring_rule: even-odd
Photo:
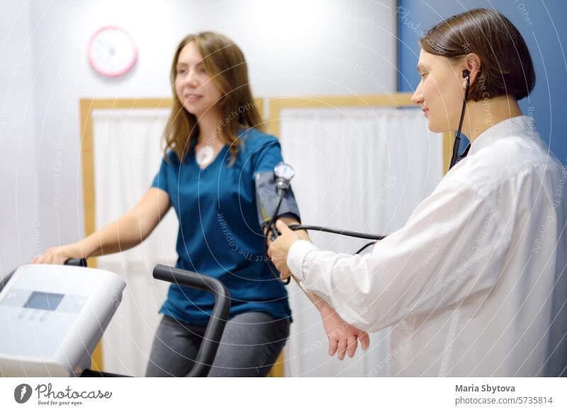
[[[0,275],[84,234],[80,98],[169,97],[174,49],[199,30],[240,45],[255,96],[391,93],[394,11],[394,0],[1,1]],[[108,24],[139,49],[120,79],[86,58]]]

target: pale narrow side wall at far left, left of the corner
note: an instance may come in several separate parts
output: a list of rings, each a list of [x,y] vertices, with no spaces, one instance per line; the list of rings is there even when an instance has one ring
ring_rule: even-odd
[[[31,31],[26,3],[1,4],[0,280],[30,260],[36,241],[35,228],[39,224]]]

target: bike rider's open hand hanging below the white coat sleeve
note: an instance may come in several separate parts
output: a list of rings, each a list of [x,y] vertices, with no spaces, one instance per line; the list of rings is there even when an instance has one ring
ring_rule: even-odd
[[[368,349],[370,345],[368,333],[347,324],[330,305],[326,304],[322,307],[320,314],[329,339],[329,355],[333,356],[337,353],[339,360],[343,360],[346,353],[349,357],[353,357],[357,351],[358,341],[362,350]]]

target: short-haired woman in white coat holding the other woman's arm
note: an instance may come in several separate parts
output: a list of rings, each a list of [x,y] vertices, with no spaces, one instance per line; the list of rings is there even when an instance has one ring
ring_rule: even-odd
[[[468,156],[371,253],[320,251],[278,222],[271,258],[347,323],[392,326],[392,375],[565,375],[567,171],[517,104],[535,81],[527,46],[488,9],[420,46],[412,101],[432,132],[461,121]]]

